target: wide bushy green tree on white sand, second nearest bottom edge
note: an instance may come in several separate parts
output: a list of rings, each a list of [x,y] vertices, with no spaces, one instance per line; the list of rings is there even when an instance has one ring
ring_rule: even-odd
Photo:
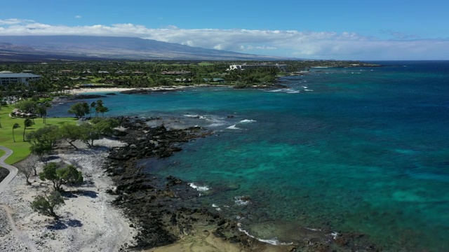
[[[39,179],[49,180],[53,183],[55,190],[61,191],[62,185],[79,185],[83,183],[83,174],[76,170],[73,165],[60,167],[56,162],[49,162],[39,173]]]

